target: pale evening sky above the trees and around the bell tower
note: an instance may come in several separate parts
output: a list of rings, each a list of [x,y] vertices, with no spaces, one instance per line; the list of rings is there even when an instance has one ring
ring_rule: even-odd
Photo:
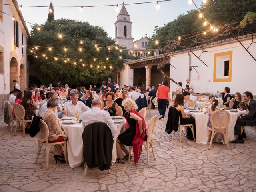
[[[49,6],[52,2],[53,6],[92,6],[92,5],[112,5],[122,4],[122,0],[17,0],[19,5],[33,5],[33,6]],[[137,3],[137,2],[151,2],[155,0],[125,0],[124,3]],[[7,0],[3,0],[7,3]],[[200,7],[201,0],[194,0],[196,5]],[[147,34],[148,37],[152,36],[155,26],[164,26],[164,24],[174,20],[182,13],[195,6],[189,5],[188,0],[173,0],[170,2],[159,2],[160,9],[156,9],[156,3],[126,5],[126,10],[130,14],[132,21],[132,37],[138,40]],[[119,11],[122,6],[119,6]],[[43,24],[48,17],[48,8],[33,8],[22,7],[22,15],[24,20],[30,23]],[[115,7],[95,7],[83,8],[54,8],[54,18],[67,18],[73,20],[88,21],[93,26],[101,26],[106,30],[110,37],[114,38],[116,22]],[[28,30],[31,29],[30,24],[27,24]]]

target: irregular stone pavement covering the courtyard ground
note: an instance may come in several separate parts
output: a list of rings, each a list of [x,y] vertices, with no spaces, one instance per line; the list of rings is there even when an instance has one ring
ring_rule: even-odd
[[[166,114],[168,111],[166,111]],[[158,114],[152,110],[152,115]],[[149,117],[147,115],[147,122]],[[147,123],[146,122],[146,123]],[[51,148],[49,169],[46,169],[45,148],[42,148],[38,164],[34,164],[37,139],[28,134],[22,137],[21,130],[13,136],[0,117],[0,191],[44,191],[44,192],[256,192],[256,132],[247,129],[244,144],[226,145],[214,143],[197,144],[173,134],[166,134],[166,120],[157,120],[154,136],[156,160],[150,153],[147,166],[146,151],[134,165],[111,166],[111,174],[98,168],[70,168],[68,164],[56,164]]]

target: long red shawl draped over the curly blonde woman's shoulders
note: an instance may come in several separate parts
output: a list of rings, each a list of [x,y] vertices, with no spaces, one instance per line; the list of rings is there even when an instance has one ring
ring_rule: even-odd
[[[146,136],[145,130],[147,130],[147,127],[146,127],[146,123],[145,123],[144,118],[136,110],[131,110],[128,113],[128,115],[130,113],[134,113],[134,114],[138,115],[142,119],[142,130],[143,130],[143,133],[140,134],[139,122],[136,121],[136,135],[135,135],[135,137],[133,138],[133,141],[132,141],[134,164],[136,165],[137,161],[140,158],[140,154],[142,152],[142,146],[143,146],[143,143],[144,143],[144,140],[145,140],[145,136]],[[128,117],[128,115],[127,115],[127,117]],[[128,121],[127,121],[127,118],[126,118],[125,128],[128,129],[129,127],[130,127],[130,125],[128,124]]]

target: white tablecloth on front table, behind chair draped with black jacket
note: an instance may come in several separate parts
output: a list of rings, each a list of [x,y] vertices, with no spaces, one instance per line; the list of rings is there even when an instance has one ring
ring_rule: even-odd
[[[118,137],[120,130],[125,126],[125,123],[118,123],[117,126],[117,134],[113,138],[113,151],[112,151],[112,161],[111,164],[114,165],[117,158],[117,151],[116,151],[116,138]],[[84,132],[84,128],[82,127],[82,123],[78,124],[62,124],[62,128],[65,134],[68,135],[67,141],[67,151],[68,151],[68,163],[69,166],[72,168],[80,166],[84,162],[83,157],[83,139],[82,134]]]

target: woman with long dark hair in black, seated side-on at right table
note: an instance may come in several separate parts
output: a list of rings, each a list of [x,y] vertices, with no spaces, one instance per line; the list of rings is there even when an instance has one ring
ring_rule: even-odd
[[[180,124],[187,125],[193,124],[194,126],[194,136],[196,138],[196,120],[190,118],[190,116],[186,116],[184,112],[184,95],[177,94],[173,106],[180,112]],[[190,128],[187,129],[187,138],[191,141],[194,140],[193,133]]]

